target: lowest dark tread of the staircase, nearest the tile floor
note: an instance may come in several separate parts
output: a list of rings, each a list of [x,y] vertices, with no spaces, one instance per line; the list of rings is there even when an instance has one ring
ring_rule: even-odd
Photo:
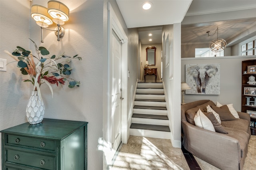
[[[168,126],[163,126],[163,125],[147,125],[147,124],[132,123],[130,128],[170,132],[170,128]]]

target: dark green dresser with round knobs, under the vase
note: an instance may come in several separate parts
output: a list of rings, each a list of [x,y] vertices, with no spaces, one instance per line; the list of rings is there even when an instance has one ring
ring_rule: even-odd
[[[87,124],[44,119],[1,130],[2,170],[87,170]]]

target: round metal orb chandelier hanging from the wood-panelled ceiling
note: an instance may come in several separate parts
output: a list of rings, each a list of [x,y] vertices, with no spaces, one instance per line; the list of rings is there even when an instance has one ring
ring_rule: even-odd
[[[209,34],[210,31],[206,32],[209,36],[214,36],[214,34],[217,32],[217,39],[212,40],[209,44],[209,48],[213,51],[213,52],[220,52],[222,50],[224,50],[226,48],[226,41],[222,38],[218,38],[218,27],[215,30],[214,34],[210,35]]]

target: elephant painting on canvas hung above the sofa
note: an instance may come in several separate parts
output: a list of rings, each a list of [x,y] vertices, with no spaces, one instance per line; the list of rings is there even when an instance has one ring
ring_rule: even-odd
[[[220,94],[220,64],[186,64],[186,94]]]

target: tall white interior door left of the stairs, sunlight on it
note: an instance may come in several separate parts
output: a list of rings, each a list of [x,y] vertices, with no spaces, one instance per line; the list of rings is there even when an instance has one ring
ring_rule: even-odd
[[[112,148],[118,149],[122,138],[122,43],[112,30]]]

